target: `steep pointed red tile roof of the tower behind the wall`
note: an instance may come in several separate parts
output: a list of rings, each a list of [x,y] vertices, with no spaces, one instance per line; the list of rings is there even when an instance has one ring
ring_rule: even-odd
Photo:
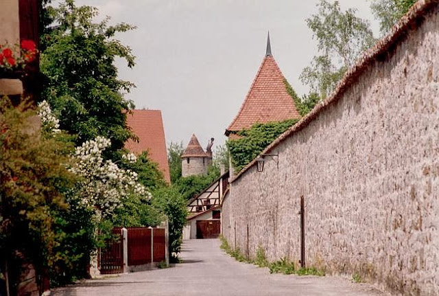
[[[271,55],[265,56],[246,100],[226,129],[226,135],[229,135],[230,131],[250,128],[257,122],[300,118],[293,98],[287,93],[284,79],[274,58]]]

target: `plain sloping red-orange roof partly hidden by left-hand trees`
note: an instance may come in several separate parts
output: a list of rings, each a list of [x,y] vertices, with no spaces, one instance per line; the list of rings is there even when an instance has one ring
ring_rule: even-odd
[[[149,156],[158,163],[158,168],[163,172],[163,177],[165,177],[167,183],[170,183],[171,177],[167,163],[165,131],[163,130],[161,111],[132,110],[132,114],[127,114],[126,122],[132,132],[139,137],[139,143],[130,139],[126,142],[125,148],[137,155],[148,150]]]

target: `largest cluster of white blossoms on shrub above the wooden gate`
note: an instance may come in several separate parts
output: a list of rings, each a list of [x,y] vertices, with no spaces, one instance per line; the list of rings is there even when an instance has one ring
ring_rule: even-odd
[[[136,172],[123,170],[110,160],[104,161],[102,152],[110,144],[110,140],[104,137],[86,141],[82,146],[75,148],[76,161],[70,168],[71,172],[84,179],[80,193],[82,204],[94,207],[102,216],[112,214],[115,208],[121,205],[121,198],[129,194],[151,198],[150,192],[137,182]],[[125,158],[132,160],[132,157]]]

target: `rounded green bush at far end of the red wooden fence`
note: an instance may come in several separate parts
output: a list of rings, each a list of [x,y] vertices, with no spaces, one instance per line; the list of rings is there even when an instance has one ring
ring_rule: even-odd
[[[164,187],[153,193],[152,204],[167,216],[169,223],[170,260],[178,260],[182,231],[186,224],[187,200],[174,187]]]

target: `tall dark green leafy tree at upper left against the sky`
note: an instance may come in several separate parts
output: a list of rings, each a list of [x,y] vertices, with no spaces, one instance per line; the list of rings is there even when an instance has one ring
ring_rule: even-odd
[[[115,39],[134,27],[110,26],[108,18],[93,23],[97,13],[90,6],[76,7],[73,0],[45,7],[45,23],[52,25],[41,38],[40,69],[47,76],[42,97],[60,119],[60,128],[78,135],[77,144],[106,137],[111,153],[134,137],[124,112],[134,105],[122,94],[134,84],[117,79],[114,65],[115,58],[124,58],[128,67],[134,66],[131,49]]]

